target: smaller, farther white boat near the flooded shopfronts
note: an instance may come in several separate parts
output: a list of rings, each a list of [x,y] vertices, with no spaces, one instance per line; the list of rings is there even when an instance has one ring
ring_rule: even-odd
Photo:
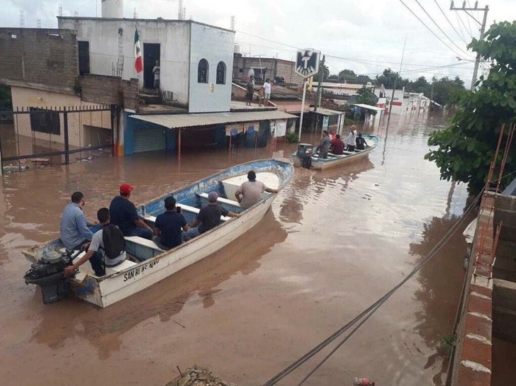
[[[363,135],[366,140],[367,146],[363,150],[354,150],[354,152],[344,152],[344,154],[332,154],[328,153],[327,158],[319,158],[318,154],[315,154],[315,147],[312,144],[299,144],[298,152],[293,153],[293,164],[294,166],[303,166],[303,155],[305,150],[308,150],[308,157],[311,155],[311,167],[315,170],[325,170],[334,166],[341,166],[349,162],[358,161],[367,157],[370,152],[378,145],[378,137],[376,135]],[[303,149],[303,154],[300,154],[300,149]],[[301,155],[301,157],[300,157]]]

